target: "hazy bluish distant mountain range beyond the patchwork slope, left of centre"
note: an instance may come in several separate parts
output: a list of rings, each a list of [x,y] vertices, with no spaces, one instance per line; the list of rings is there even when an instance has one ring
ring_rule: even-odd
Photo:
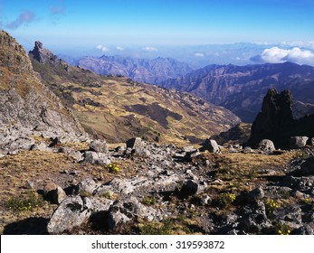
[[[132,80],[151,84],[163,80],[186,75],[192,69],[183,62],[172,58],[156,58],[152,60],[136,59],[123,56],[106,56],[100,58],[86,57],[79,61],[83,69],[102,75],[120,75]]]

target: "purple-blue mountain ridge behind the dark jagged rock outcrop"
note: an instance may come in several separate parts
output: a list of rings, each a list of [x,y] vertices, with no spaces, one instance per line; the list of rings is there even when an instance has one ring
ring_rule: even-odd
[[[314,110],[314,67],[285,62],[261,65],[209,65],[184,77],[166,80],[162,87],[187,91],[230,109],[243,122],[252,122],[268,89],[290,89],[295,117]]]

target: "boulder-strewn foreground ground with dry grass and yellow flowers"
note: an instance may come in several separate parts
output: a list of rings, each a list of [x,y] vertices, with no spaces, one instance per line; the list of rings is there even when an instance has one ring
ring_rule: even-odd
[[[313,234],[314,149],[34,138],[0,158],[3,234]]]

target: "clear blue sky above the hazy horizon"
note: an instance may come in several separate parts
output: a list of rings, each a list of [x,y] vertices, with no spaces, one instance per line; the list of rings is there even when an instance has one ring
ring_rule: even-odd
[[[313,11],[314,0],[0,0],[0,27],[51,47],[313,42]]]

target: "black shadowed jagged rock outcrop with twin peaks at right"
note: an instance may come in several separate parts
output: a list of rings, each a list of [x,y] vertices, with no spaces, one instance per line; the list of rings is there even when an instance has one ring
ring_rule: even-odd
[[[256,147],[262,139],[270,139],[276,148],[296,148],[300,137],[294,136],[308,136],[302,138],[304,146],[304,142],[314,136],[314,115],[294,119],[292,103],[293,98],[289,90],[278,93],[276,89],[270,89],[262,102],[262,111],[252,124],[247,145]],[[293,146],[291,137],[294,140]],[[300,144],[298,146],[300,147]]]

